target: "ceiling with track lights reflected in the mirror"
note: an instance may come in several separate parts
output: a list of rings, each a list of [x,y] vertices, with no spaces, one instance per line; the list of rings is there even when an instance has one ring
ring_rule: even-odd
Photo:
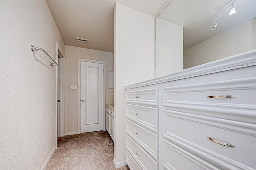
[[[232,3],[236,14],[229,15]],[[172,0],[159,17],[183,26],[186,49],[255,18],[256,0]],[[216,18],[218,25],[212,31],[210,28]]]

